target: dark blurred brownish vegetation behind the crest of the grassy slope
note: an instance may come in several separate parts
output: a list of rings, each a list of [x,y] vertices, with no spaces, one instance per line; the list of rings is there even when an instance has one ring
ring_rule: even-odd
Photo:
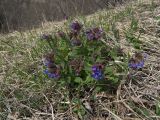
[[[87,15],[126,0],[1,0],[0,32],[31,29],[45,21]]]

